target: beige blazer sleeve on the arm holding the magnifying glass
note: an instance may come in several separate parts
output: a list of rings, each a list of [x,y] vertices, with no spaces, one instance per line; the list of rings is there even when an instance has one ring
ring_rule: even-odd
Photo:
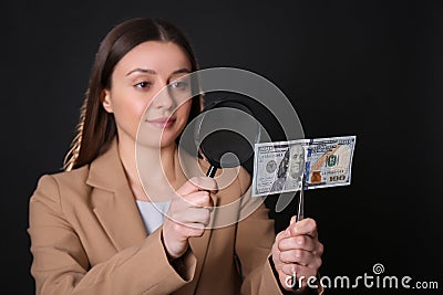
[[[171,265],[162,228],[91,267],[79,236],[63,217],[59,187],[51,176],[40,179],[31,197],[29,222],[37,294],[169,294],[190,282],[195,273],[196,257],[190,251],[179,265]]]

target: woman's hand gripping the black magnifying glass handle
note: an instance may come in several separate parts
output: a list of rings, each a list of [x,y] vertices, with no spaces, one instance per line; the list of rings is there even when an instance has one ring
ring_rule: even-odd
[[[182,256],[188,247],[188,239],[202,236],[210,219],[217,182],[208,177],[194,177],[183,185],[171,200],[163,223],[163,243],[169,259]]]

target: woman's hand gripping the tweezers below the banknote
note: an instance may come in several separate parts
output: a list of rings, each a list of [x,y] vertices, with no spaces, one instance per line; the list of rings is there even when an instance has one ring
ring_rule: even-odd
[[[321,265],[323,245],[318,241],[317,224],[313,219],[303,219],[295,222],[292,217],[289,226],[277,234],[272,245],[272,261],[278,272],[281,286],[290,291],[293,274],[297,284],[301,276],[300,288],[307,286],[310,276],[316,276]],[[311,282],[313,283],[313,282]],[[318,284],[318,282],[316,282]]]

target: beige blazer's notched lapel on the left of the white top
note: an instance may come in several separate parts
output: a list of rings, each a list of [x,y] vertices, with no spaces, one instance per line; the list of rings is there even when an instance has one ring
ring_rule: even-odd
[[[117,251],[142,242],[146,230],[127,183],[114,138],[110,149],[90,167],[87,185],[93,212]]]

